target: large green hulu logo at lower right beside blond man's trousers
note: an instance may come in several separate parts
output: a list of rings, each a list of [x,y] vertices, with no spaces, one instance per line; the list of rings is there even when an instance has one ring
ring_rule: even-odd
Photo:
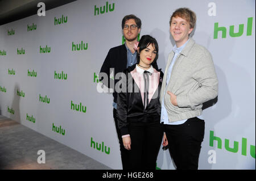
[[[222,149],[222,140],[220,137],[217,136],[213,136],[214,132],[210,131],[210,146],[213,146],[213,141],[217,141],[217,148],[218,149]],[[242,155],[246,156],[247,155],[247,139],[246,138],[242,138]],[[238,141],[234,141],[234,148],[230,148],[229,147],[229,140],[225,139],[225,149],[227,151],[233,152],[233,153],[237,153],[239,148],[239,142]],[[255,158],[255,146],[254,145],[250,145],[250,155],[251,157]]]

